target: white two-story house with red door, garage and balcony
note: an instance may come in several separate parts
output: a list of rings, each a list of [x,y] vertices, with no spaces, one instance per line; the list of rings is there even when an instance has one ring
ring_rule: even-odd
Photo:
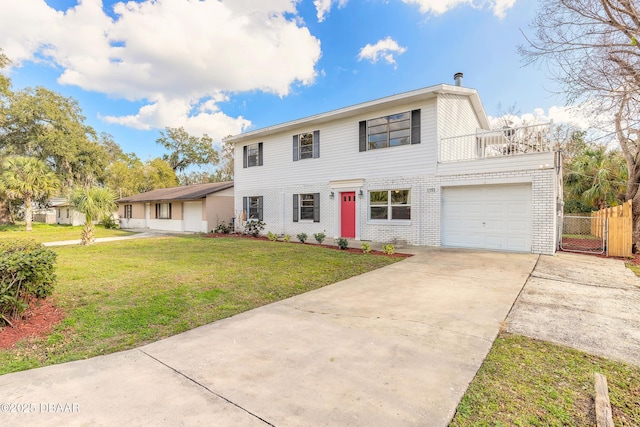
[[[293,236],[553,254],[550,124],[491,131],[456,77],[226,138],[236,212]]]

